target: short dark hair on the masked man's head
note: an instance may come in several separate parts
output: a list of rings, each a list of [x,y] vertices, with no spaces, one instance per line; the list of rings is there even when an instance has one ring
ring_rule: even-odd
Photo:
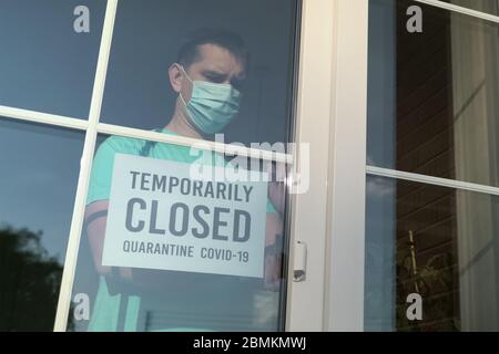
[[[214,44],[227,50],[246,69],[249,64],[249,53],[243,39],[233,32],[222,29],[198,29],[191,32],[186,42],[179,50],[177,63],[187,69],[201,60],[200,46],[203,44]]]

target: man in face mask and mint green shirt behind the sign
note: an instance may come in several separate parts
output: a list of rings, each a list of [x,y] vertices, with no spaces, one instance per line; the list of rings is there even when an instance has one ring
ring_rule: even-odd
[[[235,34],[203,30],[193,34],[169,69],[172,90],[179,95],[164,134],[210,139],[235,118],[246,77],[248,53]],[[262,284],[237,277],[173,271],[153,271],[102,266],[106,211],[115,154],[194,163],[190,148],[113,136],[99,148],[85,210],[85,229],[93,262],[101,275],[89,330],[252,330],[252,298]],[[225,164],[213,155],[215,165]],[[268,248],[283,232],[279,214],[267,202],[266,240]],[[266,285],[279,281],[281,261],[265,260]],[[245,310],[247,308],[247,311]],[[245,320],[234,316],[243,313]],[[234,327],[234,323],[237,325]],[[259,330],[265,330],[259,327]]]

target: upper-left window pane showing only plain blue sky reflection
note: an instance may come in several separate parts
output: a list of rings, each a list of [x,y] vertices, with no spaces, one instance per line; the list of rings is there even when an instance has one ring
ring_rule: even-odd
[[[79,6],[90,32],[75,32]],[[0,1],[0,105],[86,118],[104,10],[99,0]]]

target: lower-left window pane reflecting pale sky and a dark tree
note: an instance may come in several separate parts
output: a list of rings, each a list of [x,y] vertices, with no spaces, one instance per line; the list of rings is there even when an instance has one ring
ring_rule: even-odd
[[[0,331],[52,331],[84,135],[0,117]]]

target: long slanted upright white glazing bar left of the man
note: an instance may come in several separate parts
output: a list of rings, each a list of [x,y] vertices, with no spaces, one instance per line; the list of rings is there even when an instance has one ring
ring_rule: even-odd
[[[93,85],[92,102],[90,105],[89,128],[86,131],[83,154],[80,164],[77,197],[74,201],[73,218],[65,253],[64,270],[62,273],[59,303],[55,315],[54,331],[63,332],[67,329],[68,315],[71,305],[71,294],[77,268],[78,251],[80,247],[81,231],[85,210],[85,200],[89,189],[89,179],[95,149],[98,124],[101,115],[102,100],[104,95],[108,63],[111,52],[111,42],[116,17],[118,0],[108,0],[105,9],[104,27],[102,30],[101,46]]]

